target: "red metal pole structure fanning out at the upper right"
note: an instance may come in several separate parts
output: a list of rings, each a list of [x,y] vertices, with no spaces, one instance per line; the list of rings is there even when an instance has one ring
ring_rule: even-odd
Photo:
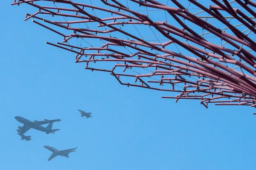
[[[163,98],[199,99],[206,108],[208,103],[256,107],[256,3],[85,1],[12,5],[38,9],[25,20],[64,37],[47,44],[75,53],[85,69],[109,72],[121,85],[178,93]]]

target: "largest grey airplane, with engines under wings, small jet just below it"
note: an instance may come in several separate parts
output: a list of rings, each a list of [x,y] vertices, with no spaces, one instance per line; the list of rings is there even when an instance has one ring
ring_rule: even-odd
[[[61,121],[61,119],[55,119],[55,120],[44,119],[44,121],[37,121],[37,120],[35,120],[34,122],[32,122],[32,121],[30,121],[28,119],[25,119],[25,118],[23,118],[21,116],[15,116],[15,119],[18,122],[24,124],[23,127],[18,126],[18,129],[17,129],[17,132],[19,134],[21,134],[21,135],[26,133],[31,128],[35,129],[35,130],[42,131],[42,132],[46,132],[46,134],[55,133],[55,131],[60,130],[60,129],[52,129],[52,124],[53,124],[53,122]],[[49,123],[49,125],[47,127],[41,126],[41,125],[48,124],[48,123]]]

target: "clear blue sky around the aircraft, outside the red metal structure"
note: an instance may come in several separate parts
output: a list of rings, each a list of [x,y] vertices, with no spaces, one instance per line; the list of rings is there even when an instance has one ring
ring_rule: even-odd
[[[31,20],[27,5],[0,6],[1,170],[255,170],[256,116],[249,106],[204,108],[162,99],[166,92],[120,85],[109,73],[84,70],[74,54],[45,44],[61,40]],[[40,33],[40,34],[39,34]],[[77,109],[92,113],[81,118]],[[15,116],[61,119],[55,134],[29,130]],[[49,145],[77,147],[47,161]]]

